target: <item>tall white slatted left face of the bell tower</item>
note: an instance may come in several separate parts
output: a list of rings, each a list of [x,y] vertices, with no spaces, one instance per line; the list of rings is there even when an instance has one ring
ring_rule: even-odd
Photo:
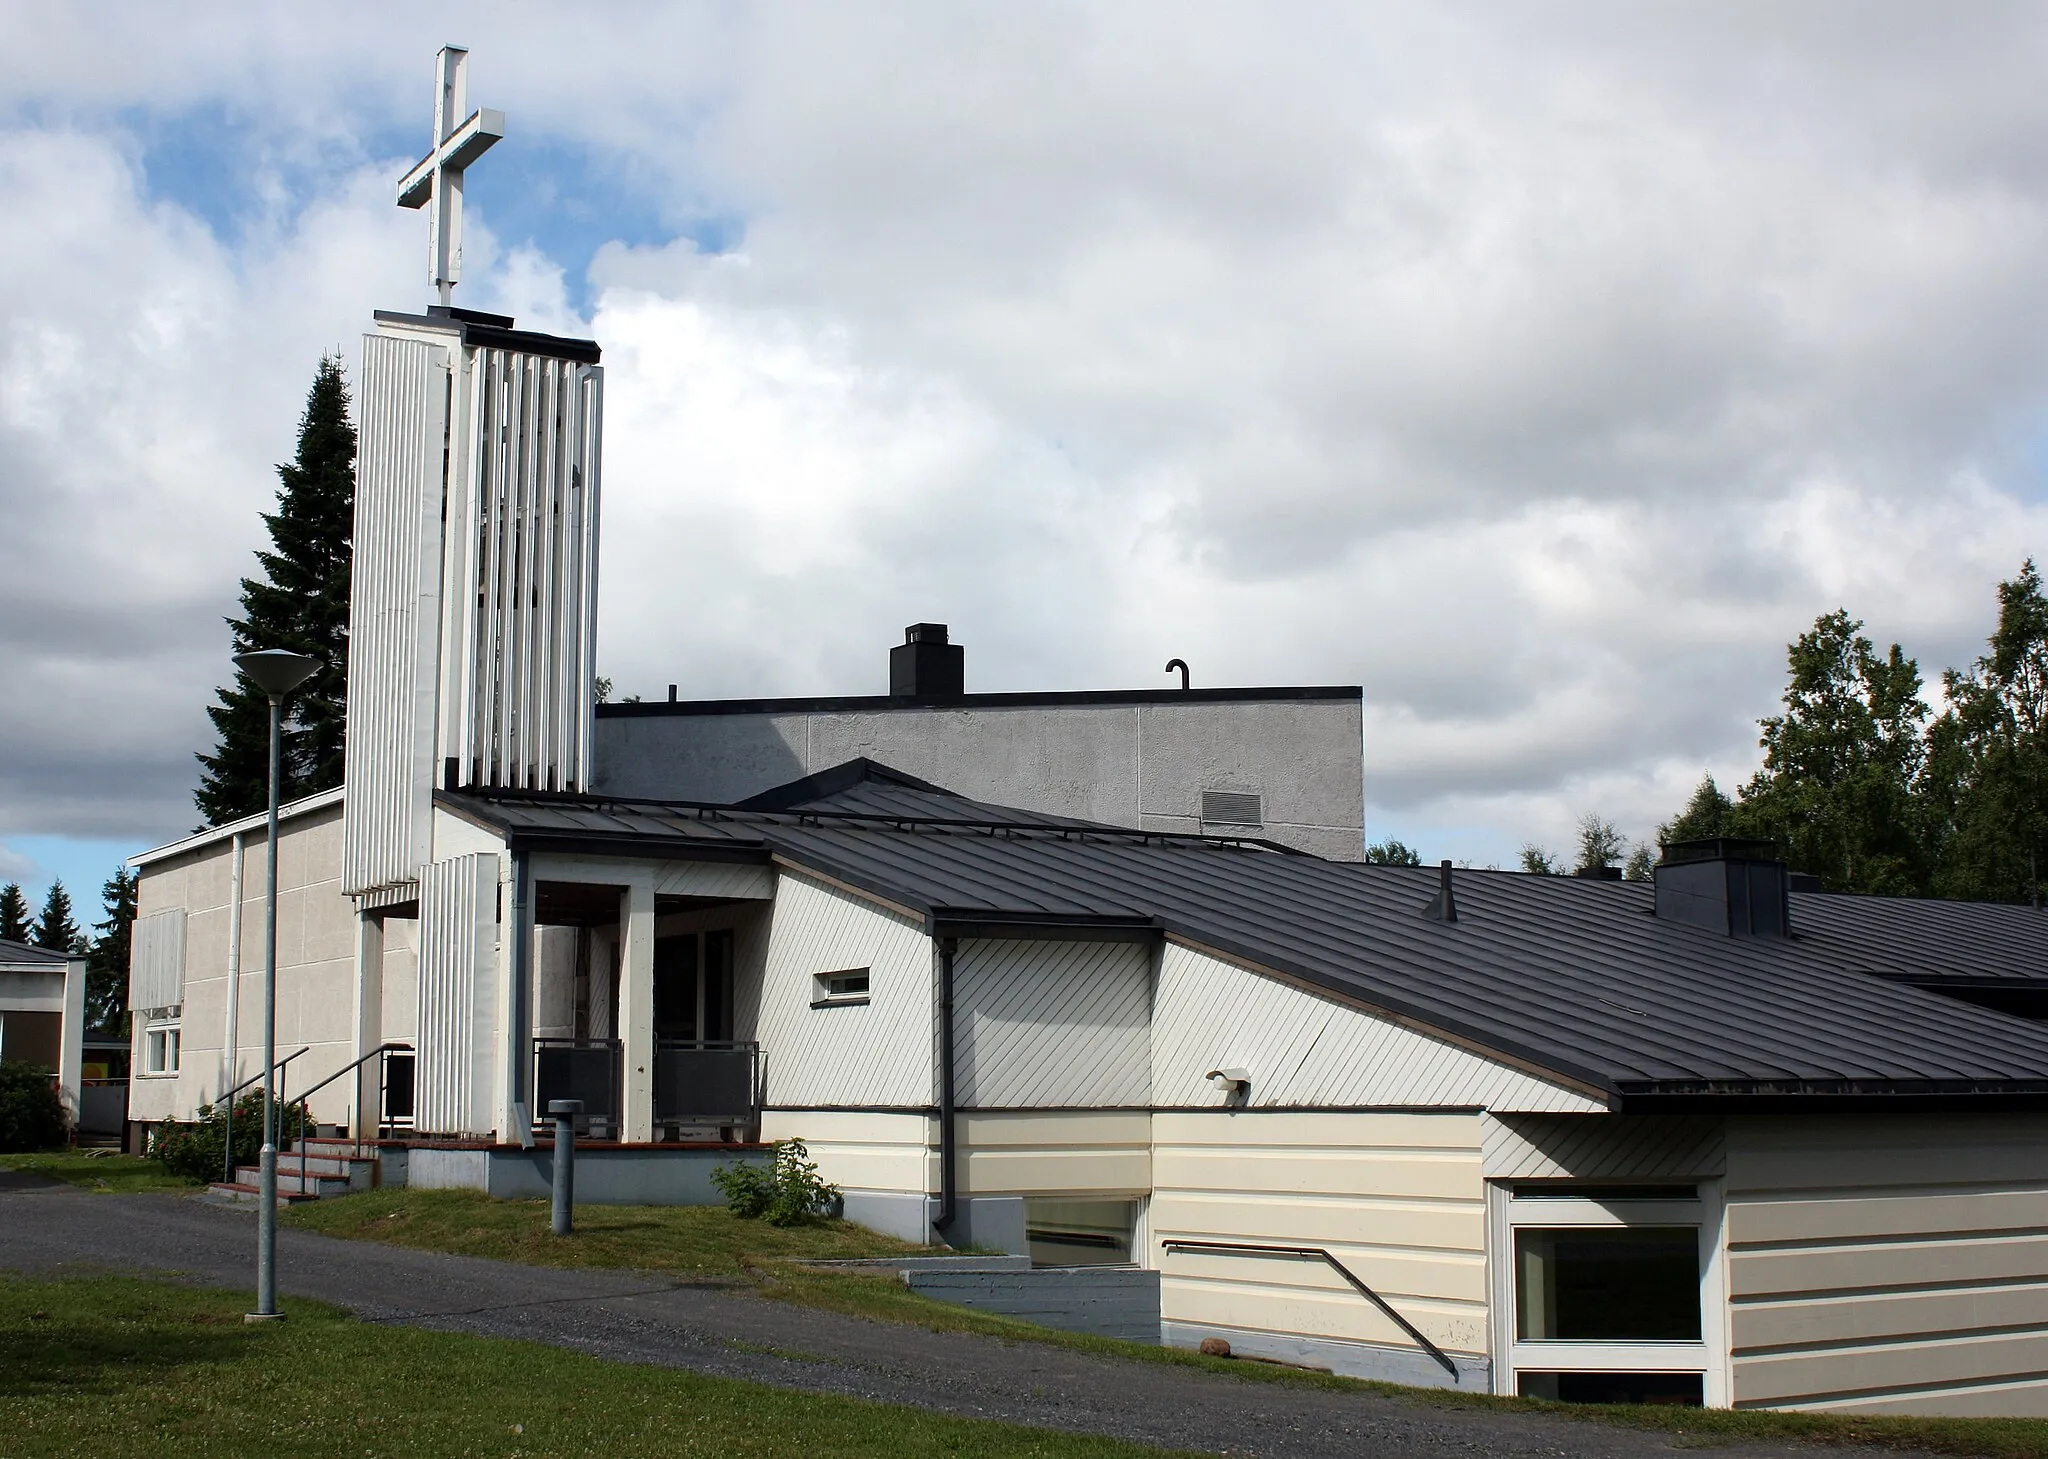
[[[362,338],[342,889],[410,881],[428,857],[440,633],[446,350]]]

